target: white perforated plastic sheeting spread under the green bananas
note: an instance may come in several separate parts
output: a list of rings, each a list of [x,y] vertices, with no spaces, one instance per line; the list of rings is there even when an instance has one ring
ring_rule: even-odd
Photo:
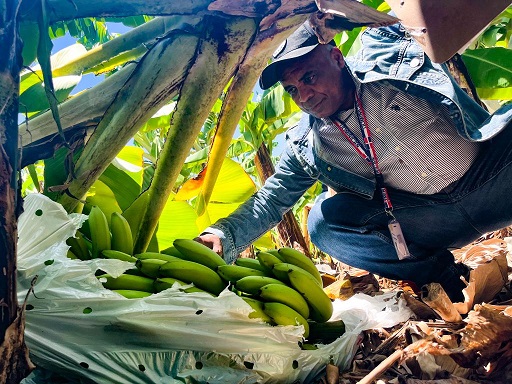
[[[103,288],[97,269],[118,275],[133,264],[71,260],[65,240],[85,216],[33,194],[19,219],[18,299],[29,296],[26,343],[32,361],[81,382],[308,383],[331,358],[347,367],[361,331],[390,327],[412,313],[394,295],[358,294],[334,302],[332,319],[346,333],[317,350],[301,350],[302,326],[249,319],[249,305],[225,290],[219,297],[168,289],[126,299]],[[37,383],[37,375],[26,383]],[[43,382],[43,381],[39,381]],[[46,381],[47,382],[47,381]]]

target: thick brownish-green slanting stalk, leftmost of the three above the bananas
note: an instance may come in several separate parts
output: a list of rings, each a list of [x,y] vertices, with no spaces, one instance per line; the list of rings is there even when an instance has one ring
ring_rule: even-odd
[[[178,91],[197,37],[182,32],[161,40],[117,93],[76,162],[76,178],[58,202],[69,212],[139,128]]]

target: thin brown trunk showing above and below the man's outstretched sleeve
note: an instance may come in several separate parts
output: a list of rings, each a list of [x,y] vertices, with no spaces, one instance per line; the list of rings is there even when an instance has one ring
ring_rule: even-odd
[[[274,165],[272,164],[270,153],[265,144],[261,144],[258,148],[254,162],[261,182],[265,182],[265,180],[274,174]],[[295,219],[291,209],[283,215],[283,219],[277,224],[277,233],[281,247],[295,248],[311,257],[309,247],[306,244],[299,223]]]

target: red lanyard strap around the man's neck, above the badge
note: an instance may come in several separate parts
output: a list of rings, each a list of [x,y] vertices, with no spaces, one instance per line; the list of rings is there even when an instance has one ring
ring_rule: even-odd
[[[354,132],[352,132],[344,122],[337,120],[333,120],[332,122],[336,127],[338,127],[340,132],[347,138],[348,142],[352,144],[357,154],[361,156],[364,160],[366,160],[368,164],[371,165],[373,173],[375,174],[377,186],[380,189],[380,193],[382,195],[384,209],[386,210],[386,213],[393,216],[391,213],[391,211],[393,210],[393,205],[391,204],[388,190],[384,185],[384,176],[382,176],[382,172],[380,171],[379,168],[377,152],[375,151],[375,146],[373,145],[371,131],[368,125],[368,120],[366,119],[366,114],[363,109],[363,104],[361,103],[361,99],[359,98],[359,95],[357,93],[355,94],[355,97],[357,121],[359,122],[359,127],[361,128],[363,143],[361,143],[361,141],[357,138]]]

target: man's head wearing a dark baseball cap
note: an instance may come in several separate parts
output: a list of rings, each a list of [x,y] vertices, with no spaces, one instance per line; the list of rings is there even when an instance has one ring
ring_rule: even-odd
[[[354,83],[343,55],[333,42],[319,44],[308,22],[301,25],[274,53],[261,74],[260,86],[280,81],[304,112],[328,117],[353,106]]]

